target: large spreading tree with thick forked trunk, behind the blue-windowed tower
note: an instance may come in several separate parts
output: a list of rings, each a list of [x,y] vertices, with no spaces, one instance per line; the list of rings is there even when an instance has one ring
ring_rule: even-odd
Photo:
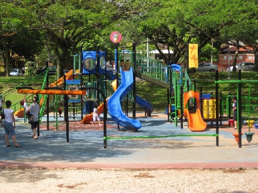
[[[100,30],[109,24],[109,3],[103,0],[52,0],[22,3],[34,14],[31,30],[44,32],[48,47],[53,49],[57,60],[58,76],[70,61],[74,48],[80,42],[98,45]]]

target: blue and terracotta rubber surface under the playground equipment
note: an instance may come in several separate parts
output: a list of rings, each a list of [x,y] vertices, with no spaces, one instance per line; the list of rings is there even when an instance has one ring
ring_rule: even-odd
[[[242,148],[233,136],[237,133],[225,122],[219,129],[219,146],[214,136],[183,136],[216,134],[215,123],[207,123],[203,132],[192,132],[187,122],[167,122],[167,115],[154,112],[151,116],[136,113],[141,128],[137,132],[118,130],[117,124],[108,115],[107,149],[104,149],[103,126],[82,124],[80,117],[69,120],[69,136],[63,117],[58,117],[58,130],[53,114],[50,113],[49,130],[46,129],[46,116],[40,125],[38,139],[32,139],[30,124],[23,118],[16,118],[16,138],[22,146],[6,147],[4,130],[0,129],[0,167],[39,167],[39,168],[256,168],[258,167],[258,130],[249,143],[242,129]],[[102,115],[103,123],[103,115]],[[146,138],[141,138],[141,137]],[[157,137],[158,136],[158,137]],[[115,139],[113,137],[124,137]],[[125,139],[131,137],[131,139]],[[147,138],[150,137],[150,138]],[[157,137],[157,138],[155,138]],[[67,138],[69,142],[67,142]]]

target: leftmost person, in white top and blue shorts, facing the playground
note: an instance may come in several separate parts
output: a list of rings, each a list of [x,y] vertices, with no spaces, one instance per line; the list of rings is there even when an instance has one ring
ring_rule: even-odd
[[[21,147],[16,142],[15,130],[14,130],[16,128],[16,126],[15,126],[14,110],[12,110],[10,108],[11,101],[6,100],[5,106],[6,106],[6,108],[3,109],[4,122],[2,122],[2,117],[1,117],[1,125],[4,128],[6,147],[11,147],[12,146],[12,145],[9,144],[9,134],[11,135],[12,141],[14,142],[14,146],[15,147]]]

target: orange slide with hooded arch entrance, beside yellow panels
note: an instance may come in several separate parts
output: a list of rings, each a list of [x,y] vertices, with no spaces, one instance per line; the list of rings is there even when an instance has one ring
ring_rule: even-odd
[[[187,108],[184,111],[187,114],[188,118],[188,128],[191,131],[204,131],[207,127],[207,123],[203,120],[201,111],[199,109],[200,101],[199,101],[199,93],[194,91],[189,91],[184,97],[184,107],[186,107],[187,101],[190,97],[194,97],[197,101],[197,110],[195,113],[189,113]]]

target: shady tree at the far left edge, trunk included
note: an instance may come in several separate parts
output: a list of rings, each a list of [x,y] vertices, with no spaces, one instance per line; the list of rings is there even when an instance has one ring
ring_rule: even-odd
[[[40,34],[28,31],[30,12],[15,2],[0,4],[0,53],[4,58],[5,75],[9,76],[10,59],[16,54],[26,60],[33,60],[40,48]]]

